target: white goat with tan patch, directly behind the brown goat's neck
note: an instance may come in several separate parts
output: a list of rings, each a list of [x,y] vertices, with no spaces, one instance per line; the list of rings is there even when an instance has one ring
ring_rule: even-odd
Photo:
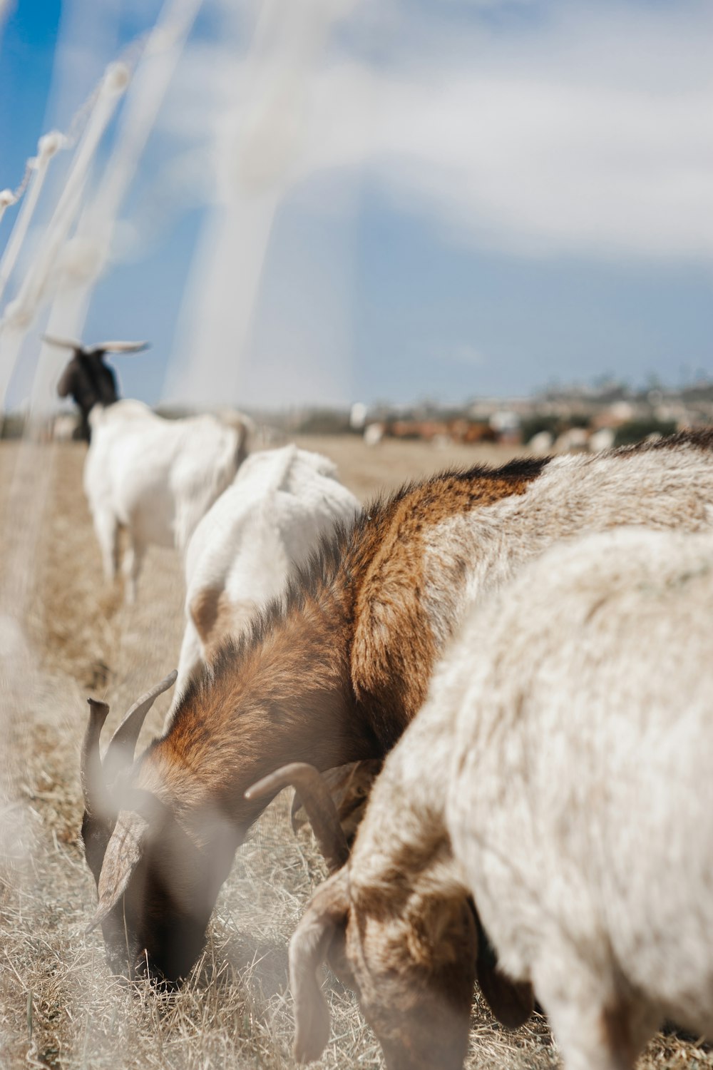
[[[228,636],[245,631],[254,613],[307,565],[322,535],[359,508],[337,467],[297,446],[252,454],[208,509],[186,550],[186,630],[176,702],[189,676],[211,661]],[[168,722],[167,722],[168,723]]]

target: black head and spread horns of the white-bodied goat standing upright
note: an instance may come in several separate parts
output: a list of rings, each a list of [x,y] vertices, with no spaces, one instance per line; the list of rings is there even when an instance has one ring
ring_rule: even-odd
[[[106,353],[138,353],[146,348],[145,341],[103,341],[98,346],[84,347],[79,341],[45,336],[50,346],[71,349],[74,355],[57,384],[61,398],[72,397],[79,409],[80,421],[73,438],[89,442],[91,428],[89,414],[95,404],[109,406],[119,400],[117,377],[113,369],[105,364]]]

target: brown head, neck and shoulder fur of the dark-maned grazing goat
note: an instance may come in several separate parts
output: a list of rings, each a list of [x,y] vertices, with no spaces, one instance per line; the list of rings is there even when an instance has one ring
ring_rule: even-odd
[[[712,448],[713,431],[642,448],[686,443]],[[326,539],[285,596],[191,679],[166,735],[126,770],[128,796],[151,801],[137,863],[144,875],[129,881],[123,915],[118,899],[107,897],[103,906],[112,912],[109,920],[123,918],[131,947],[145,951],[148,965],[177,978],[196,961],[234,852],[267,802],[246,800],[247,788],[291,762],[328,769],[383,758],[396,743],[439,654],[428,601],[433,606],[434,590],[438,597],[438,576],[424,575],[428,536],[450,517],[524,493],[547,463],[449,472],[374,503]],[[451,582],[452,569],[441,587]],[[202,612],[206,624],[215,624],[217,600]],[[118,829],[125,825],[120,819]],[[109,842],[110,835],[110,827],[102,832],[103,869],[122,871],[120,837]],[[120,882],[123,887],[123,872],[117,887]],[[153,899],[141,891],[145,887],[155,888]],[[118,938],[114,950],[125,953],[128,944]],[[449,983],[444,977],[444,991]]]

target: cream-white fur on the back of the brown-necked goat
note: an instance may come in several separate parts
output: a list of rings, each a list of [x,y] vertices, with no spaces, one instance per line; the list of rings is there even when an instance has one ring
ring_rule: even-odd
[[[713,454],[684,446],[556,457],[493,505],[424,535],[424,592],[438,645],[468,607],[553,542],[622,524],[703,531],[713,525]]]

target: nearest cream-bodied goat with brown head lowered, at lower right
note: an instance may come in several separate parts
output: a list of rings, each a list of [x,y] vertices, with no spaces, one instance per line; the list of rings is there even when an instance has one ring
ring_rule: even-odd
[[[476,607],[293,936],[300,1061],[327,1041],[328,958],[389,1068],[456,1070],[476,947],[510,1024],[533,985],[567,1070],[631,1070],[665,1019],[713,1037],[712,607],[711,534],[641,529]],[[336,869],[309,773],[263,786],[307,785]]]

